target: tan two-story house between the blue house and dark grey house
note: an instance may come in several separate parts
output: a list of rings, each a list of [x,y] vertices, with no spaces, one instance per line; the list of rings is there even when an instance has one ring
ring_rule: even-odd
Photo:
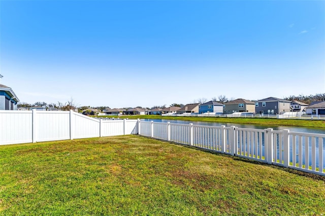
[[[255,103],[242,98],[232,100],[223,104],[223,114],[233,113],[255,113]]]

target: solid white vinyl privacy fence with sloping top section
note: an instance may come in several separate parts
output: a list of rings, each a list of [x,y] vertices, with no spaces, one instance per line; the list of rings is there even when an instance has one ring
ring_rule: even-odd
[[[0,111],[0,145],[138,133],[137,120],[90,118],[73,111]]]

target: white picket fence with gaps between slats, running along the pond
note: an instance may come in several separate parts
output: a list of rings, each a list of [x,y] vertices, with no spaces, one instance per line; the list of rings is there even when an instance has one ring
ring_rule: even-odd
[[[152,121],[138,127],[142,136],[325,175],[325,134]]]

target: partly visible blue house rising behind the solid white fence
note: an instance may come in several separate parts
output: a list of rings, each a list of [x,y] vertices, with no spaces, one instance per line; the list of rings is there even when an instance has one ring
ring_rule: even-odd
[[[0,80],[2,78],[0,75]],[[18,102],[15,92],[10,87],[0,84],[0,110],[17,110]]]

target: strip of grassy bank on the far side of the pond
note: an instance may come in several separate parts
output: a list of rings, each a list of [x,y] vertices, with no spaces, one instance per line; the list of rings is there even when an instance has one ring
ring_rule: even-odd
[[[112,116],[101,116],[112,118]],[[298,126],[298,127],[318,127],[325,128],[323,120],[302,120],[302,119],[268,119],[268,118],[223,118],[223,117],[174,117],[159,115],[135,115],[119,116],[118,118],[128,119],[166,119],[166,120],[183,120],[183,121],[204,121],[204,122],[224,122],[236,124],[259,124],[275,126]]]

